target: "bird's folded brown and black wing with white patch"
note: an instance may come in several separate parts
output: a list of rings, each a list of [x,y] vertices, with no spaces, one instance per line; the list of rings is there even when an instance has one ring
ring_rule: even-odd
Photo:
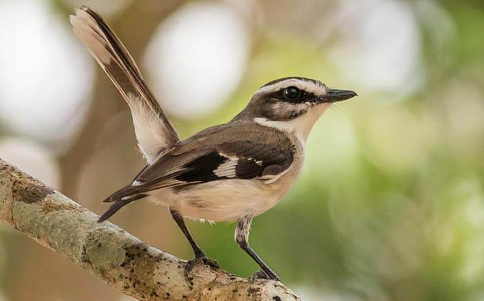
[[[290,167],[295,146],[275,129],[231,122],[194,135],[159,158],[136,179],[158,189],[223,179],[268,179]],[[169,180],[169,181],[167,181]]]

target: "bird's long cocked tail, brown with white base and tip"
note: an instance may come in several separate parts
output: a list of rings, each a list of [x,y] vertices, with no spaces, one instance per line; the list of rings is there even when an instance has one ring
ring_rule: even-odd
[[[133,57],[94,10],[82,6],[70,17],[74,33],[129,104],[136,138],[148,163],[178,141],[178,134],[143,80]]]

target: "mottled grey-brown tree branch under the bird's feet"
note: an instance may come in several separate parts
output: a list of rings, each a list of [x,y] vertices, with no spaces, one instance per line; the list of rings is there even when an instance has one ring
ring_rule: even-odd
[[[153,248],[0,159],[0,220],[140,300],[300,300],[274,280],[247,280]]]

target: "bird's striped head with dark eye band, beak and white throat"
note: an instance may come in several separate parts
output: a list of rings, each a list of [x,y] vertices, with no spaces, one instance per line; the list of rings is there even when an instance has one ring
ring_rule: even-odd
[[[350,90],[330,89],[319,80],[284,77],[261,86],[234,120],[252,119],[261,125],[293,131],[306,140],[314,123],[333,102],[356,95]]]

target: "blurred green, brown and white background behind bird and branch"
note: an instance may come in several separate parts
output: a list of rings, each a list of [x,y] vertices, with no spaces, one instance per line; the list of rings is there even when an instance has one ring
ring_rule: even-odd
[[[304,172],[251,245],[305,300],[484,300],[481,0],[2,0],[0,157],[86,208],[144,165],[127,105],[68,23],[98,10],[183,138],[264,83],[315,77],[360,94],[327,111]],[[192,257],[166,210],[111,219]],[[189,222],[207,255],[258,268],[234,225]],[[0,300],[129,300],[0,226]]]

